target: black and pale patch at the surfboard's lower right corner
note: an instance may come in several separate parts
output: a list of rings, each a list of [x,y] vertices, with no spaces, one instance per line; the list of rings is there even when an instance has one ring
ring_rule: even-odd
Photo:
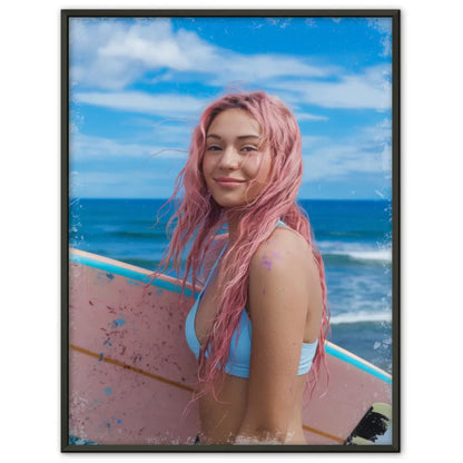
[[[392,423],[390,404],[375,403],[365,413],[344,445],[374,445],[378,436],[384,435]]]

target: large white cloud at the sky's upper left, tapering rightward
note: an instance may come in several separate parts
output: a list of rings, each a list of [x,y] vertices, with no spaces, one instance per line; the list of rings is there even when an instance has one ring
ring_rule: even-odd
[[[286,27],[287,21],[279,21]],[[73,19],[70,24],[72,86],[122,89],[147,71],[161,72],[151,81],[196,79],[224,86],[235,80],[262,82],[282,76],[324,77],[333,67],[312,66],[285,55],[240,55],[216,47],[187,30],[174,31],[169,19]],[[200,77],[200,78],[199,78]]]

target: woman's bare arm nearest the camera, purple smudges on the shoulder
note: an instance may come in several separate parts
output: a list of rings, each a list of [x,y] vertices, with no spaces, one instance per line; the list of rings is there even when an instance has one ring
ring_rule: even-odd
[[[318,284],[307,243],[277,229],[250,264],[253,343],[247,406],[235,443],[285,443],[298,406],[297,371],[311,290]]]

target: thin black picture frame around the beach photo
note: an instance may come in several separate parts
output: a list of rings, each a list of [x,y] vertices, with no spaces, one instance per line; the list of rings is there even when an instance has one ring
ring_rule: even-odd
[[[69,440],[69,19],[144,17],[361,17],[392,19],[392,305],[393,305],[393,443],[392,445],[70,445]],[[61,452],[400,452],[401,450],[401,66],[400,10],[61,10]]]

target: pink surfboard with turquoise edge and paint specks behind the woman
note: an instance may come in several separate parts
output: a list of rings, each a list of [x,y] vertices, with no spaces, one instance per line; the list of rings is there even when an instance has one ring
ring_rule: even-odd
[[[180,282],[168,276],[146,287],[149,275],[104,256],[69,252],[73,437],[115,445],[195,442],[198,407],[187,405],[197,364],[185,339],[185,319],[197,294],[190,286],[180,294]],[[316,386],[303,427],[308,444],[342,445],[374,404],[391,405],[392,377],[335,344],[327,342],[326,353],[329,386]]]

